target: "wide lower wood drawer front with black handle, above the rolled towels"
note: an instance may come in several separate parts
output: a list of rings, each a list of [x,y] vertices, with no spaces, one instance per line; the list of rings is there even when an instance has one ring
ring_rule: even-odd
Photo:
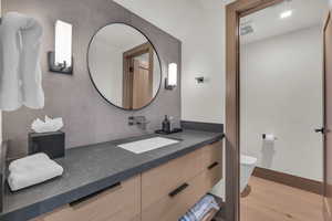
[[[207,192],[205,183],[206,175],[200,172],[186,186],[178,186],[173,191],[173,197],[165,196],[157,202],[142,211],[142,221],[177,221]],[[170,192],[169,192],[170,193]]]

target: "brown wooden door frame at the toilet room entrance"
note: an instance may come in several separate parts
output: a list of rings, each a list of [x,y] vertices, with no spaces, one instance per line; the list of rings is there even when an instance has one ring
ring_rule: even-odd
[[[241,17],[283,0],[237,0],[226,7],[226,220],[240,220],[240,67]]]

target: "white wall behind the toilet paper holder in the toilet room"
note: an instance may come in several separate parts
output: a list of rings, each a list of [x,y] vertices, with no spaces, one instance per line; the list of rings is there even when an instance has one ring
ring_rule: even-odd
[[[260,167],[322,180],[321,40],[315,27],[242,45],[241,152]]]

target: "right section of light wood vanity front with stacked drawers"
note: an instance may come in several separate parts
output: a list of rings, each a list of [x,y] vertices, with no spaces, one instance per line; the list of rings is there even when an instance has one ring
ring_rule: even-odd
[[[142,173],[142,221],[178,220],[221,178],[221,141]]]

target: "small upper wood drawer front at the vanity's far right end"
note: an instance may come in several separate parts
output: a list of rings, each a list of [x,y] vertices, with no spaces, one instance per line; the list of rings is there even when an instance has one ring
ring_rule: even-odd
[[[216,141],[207,145],[204,148],[204,168],[208,169],[214,167],[216,164],[222,164],[222,141]]]

